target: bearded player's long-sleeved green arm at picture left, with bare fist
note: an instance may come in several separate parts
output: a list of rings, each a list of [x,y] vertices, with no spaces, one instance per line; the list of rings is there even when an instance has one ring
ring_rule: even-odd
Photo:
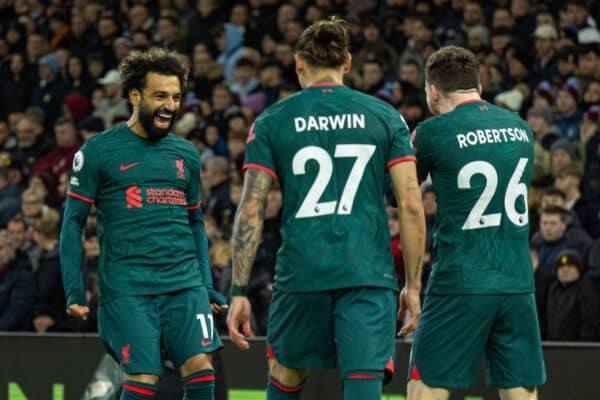
[[[83,319],[87,319],[89,308],[81,274],[82,233],[91,206],[89,202],[67,196],[60,231],[60,264],[67,298],[67,314]]]

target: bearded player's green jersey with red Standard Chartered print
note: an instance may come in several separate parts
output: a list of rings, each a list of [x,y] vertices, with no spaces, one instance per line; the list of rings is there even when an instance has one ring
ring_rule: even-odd
[[[68,195],[96,205],[102,301],[203,284],[188,209],[200,206],[200,156],[169,133],[153,143],[121,124],[75,155]]]

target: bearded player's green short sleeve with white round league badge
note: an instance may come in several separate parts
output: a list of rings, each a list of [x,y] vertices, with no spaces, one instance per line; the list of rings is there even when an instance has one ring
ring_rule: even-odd
[[[73,157],[67,195],[93,204],[100,186],[100,160],[95,146],[88,142]]]

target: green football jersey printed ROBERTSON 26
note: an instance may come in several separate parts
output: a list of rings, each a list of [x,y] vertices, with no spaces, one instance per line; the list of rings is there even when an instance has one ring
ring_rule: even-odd
[[[529,125],[484,101],[465,102],[419,124],[413,144],[419,178],[431,174],[438,204],[428,293],[533,291]]]

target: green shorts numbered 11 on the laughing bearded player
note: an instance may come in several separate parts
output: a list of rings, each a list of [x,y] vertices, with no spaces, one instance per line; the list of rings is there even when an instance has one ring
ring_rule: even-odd
[[[98,330],[110,355],[128,374],[160,375],[161,346],[177,368],[196,354],[222,347],[203,286],[102,303]]]

